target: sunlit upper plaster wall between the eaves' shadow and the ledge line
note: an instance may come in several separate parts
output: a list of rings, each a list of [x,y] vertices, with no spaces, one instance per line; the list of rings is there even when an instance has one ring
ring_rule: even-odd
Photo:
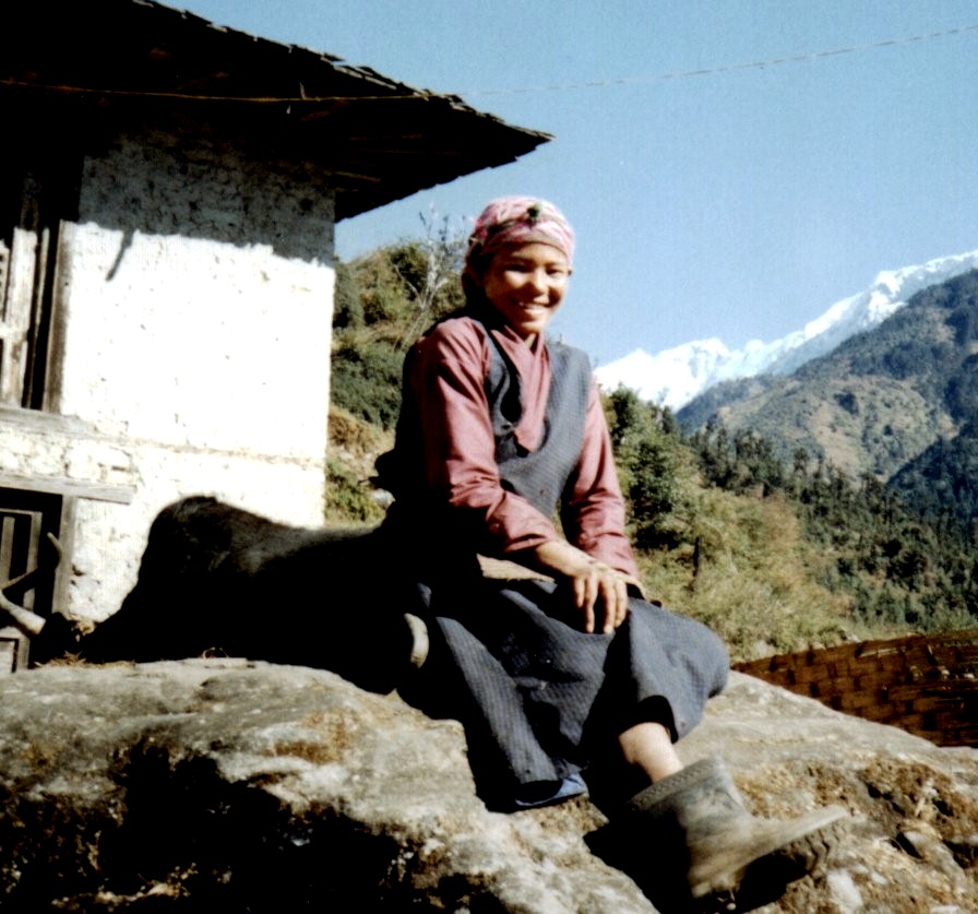
[[[94,223],[71,236],[63,414],[107,434],[322,461],[331,268]]]

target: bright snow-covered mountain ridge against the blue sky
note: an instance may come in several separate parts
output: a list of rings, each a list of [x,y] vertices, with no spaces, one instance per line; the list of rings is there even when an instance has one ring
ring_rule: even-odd
[[[832,352],[854,333],[870,330],[920,289],[978,269],[978,250],[929,260],[922,266],[884,270],[864,292],[837,301],[801,330],[773,343],[752,340],[728,349],[720,340],[696,340],[657,355],[644,349],[596,369],[605,390],[624,384],[644,400],[679,409],[720,381],[755,375],[790,375],[809,359]]]

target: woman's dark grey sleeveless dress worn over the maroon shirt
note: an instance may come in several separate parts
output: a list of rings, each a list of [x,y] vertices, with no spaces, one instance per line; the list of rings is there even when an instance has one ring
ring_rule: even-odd
[[[487,336],[486,392],[502,484],[551,517],[583,447],[589,360],[579,349],[549,344],[544,434],[526,452],[514,434],[518,377]],[[552,582],[482,578],[465,531],[453,530],[437,507],[408,508],[410,501],[398,499],[385,526],[409,556],[405,573],[414,574],[410,593],[432,644],[417,680],[402,692],[429,713],[463,722],[485,797],[506,805],[506,797],[511,804],[516,796],[546,795],[642,721],[661,723],[678,739],[723,689],[727,653],[705,626],[632,597],[613,634],[585,633],[569,592]],[[432,553],[438,561],[426,560]]]

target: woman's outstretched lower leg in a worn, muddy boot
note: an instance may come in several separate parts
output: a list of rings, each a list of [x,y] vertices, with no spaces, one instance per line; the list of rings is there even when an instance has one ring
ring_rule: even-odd
[[[635,633],[636,638],[641,634]],[[725,674],[720,661],[725,662],[726,655],[721,649],[715,653],[715,668]],[[648,670],[653,687],[660,667],[668,664]],[[671,670],[679,674],[679,687],[672,688],[665,708],[663,701],[640,702],[639,713],[646,719],[630,726],[625,722],[627,728],[619,733],[615,747],[618,768],[616,771],[616,762],[608,760],[610,767],[603,779],[608,795],[600,797],[598,805],[619,835],[619,865],[643,886],[656,906],[682,907],[691,899],[714,897],[728,902],[736,898],[744,903],[744,910],[756,907],[774,901],[788,882],[818,867],[827,853],[827,832],[845,817],[845,810],[828,807],[797,819],[758,819],[742,805],[719,759],[684,767],[669,723],[676,721],[688,728],[699,720],[702,701],[713,691],[705,675],[711,665],[702,669],[699,679],[700,668],[687,667],[689,686],[695,686],[688,690],[682,687],[683,668]],[[719,685],[723,678],[717,676]],[[622,702],[611,707],[620,708]],[[676,729],[681,736],[682,726]],[[610,740],[605,745],[611,749]],[[631,798],[620,799],[616,809],[613,802],[608,802],[616,794],[630,794]]]

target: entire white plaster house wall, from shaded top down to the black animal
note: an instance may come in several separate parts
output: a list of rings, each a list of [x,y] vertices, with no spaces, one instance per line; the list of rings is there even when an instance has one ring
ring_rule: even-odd
[[[59,412],[94,435],[27,455],[0,440],[9,472],[132,489],[79,502],[70,615],[119,607],[182,496],[321,523],[332,260],[333,197],[308,175],[158,135],[86,159],[59,251]]]

